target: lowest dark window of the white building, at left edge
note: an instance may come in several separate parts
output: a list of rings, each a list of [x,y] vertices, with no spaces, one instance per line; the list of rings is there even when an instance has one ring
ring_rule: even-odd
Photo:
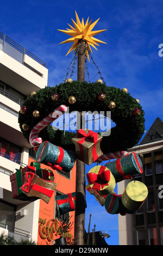
[[[0,199],[0,227],[14,231],[16,206]]]

